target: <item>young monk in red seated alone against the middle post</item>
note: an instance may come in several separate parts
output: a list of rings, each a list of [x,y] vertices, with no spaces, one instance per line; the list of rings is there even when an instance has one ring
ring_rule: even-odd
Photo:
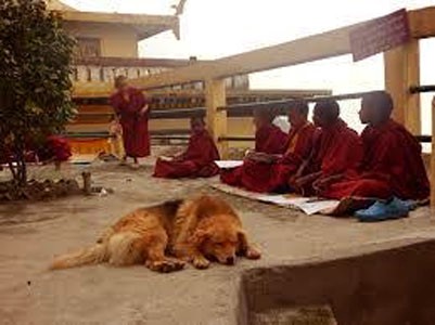
[[[188,150],[178,156],[157,159],[154,177],[178,178],[209,178],[219,173],[215,160],[219,160],[219,152],[205,129],[203,118],[193,117],[190,121],[192,135]]]

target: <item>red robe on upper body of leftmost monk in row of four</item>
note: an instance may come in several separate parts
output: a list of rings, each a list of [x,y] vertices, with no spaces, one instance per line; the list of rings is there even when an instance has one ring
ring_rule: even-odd
[[[287,138],[279,127],[266,125],[255,132],[255,151],[270,155],[283,154]]]

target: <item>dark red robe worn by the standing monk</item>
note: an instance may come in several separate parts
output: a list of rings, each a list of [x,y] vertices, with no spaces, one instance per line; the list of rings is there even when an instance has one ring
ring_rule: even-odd
[[[111,105],[120,116],[123,140],[126,155],[129,157],[145,157],[150,155],[150,134],[148,130],[149,113],[140,115],[139,112],[148,104],[143,93],[135,88],[126,90],[128,100],[123,92],[114,93]]]

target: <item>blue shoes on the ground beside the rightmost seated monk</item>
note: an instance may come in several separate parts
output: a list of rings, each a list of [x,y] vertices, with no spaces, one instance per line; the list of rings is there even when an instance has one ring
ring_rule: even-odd
[[[406,205],[394,203],[375,202],[372,206],[364,210],[355,212],[355,217],[361,222],[375,222],[407,217],[409,208]]]

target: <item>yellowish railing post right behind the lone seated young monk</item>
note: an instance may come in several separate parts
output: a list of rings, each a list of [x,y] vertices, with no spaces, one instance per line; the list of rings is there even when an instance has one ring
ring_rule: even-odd
[[[205,105],[207,107],[207,126],[215,143],[218,146],[220,157],[228,157],[228,142],[218,141],[227,135],[227,112],[217,108],[227,105],[225,79],[210,79],[205,81]]]

